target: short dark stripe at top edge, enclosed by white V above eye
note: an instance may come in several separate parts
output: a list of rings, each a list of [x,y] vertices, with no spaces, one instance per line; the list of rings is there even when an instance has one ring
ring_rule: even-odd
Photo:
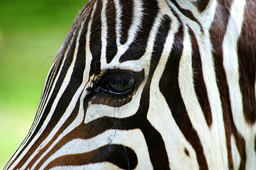
[[[128,38],[128,31],[131,27],[131,22],[133,21],[133,0],[120,0],[120,6],[122,7],[121,15],[121,44],[125,44]]]

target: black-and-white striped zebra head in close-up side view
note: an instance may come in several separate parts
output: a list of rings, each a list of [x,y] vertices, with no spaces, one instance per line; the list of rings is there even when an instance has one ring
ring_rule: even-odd
[[[3,169],[255,169],[255,9],[89,1]]]

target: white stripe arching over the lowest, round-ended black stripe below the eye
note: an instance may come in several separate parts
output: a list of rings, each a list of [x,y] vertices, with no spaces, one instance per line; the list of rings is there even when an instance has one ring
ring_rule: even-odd
[[[134,143],[134,138],[137,141],[136,143]],[[134,150],[138,157],[138,165],[136,167],[137,169],[153,169],[150,162],[146,141],[142,131],[139,129],[107,130],[94,138],[74,139],[73,141],[68,142],[66,145],[61,147],[60,150],[55,152],[55,154],[53,154],[40,169],[45,168],[50,162],[52,162],[52,160],[60,156],[90,152],[96,150],[99,147],[109,145],[110,143],[130,147],[132,150]],[[109,164],[106,165],[109,166]],[[94,165],[94,167],[96,168],[97,164]],[[113,166],[113,168],[115,168],[115,166]]]

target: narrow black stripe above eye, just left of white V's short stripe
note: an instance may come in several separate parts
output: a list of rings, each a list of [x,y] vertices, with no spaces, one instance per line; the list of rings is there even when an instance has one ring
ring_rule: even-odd
[[[110,63],[117,54],[117,35],[116,35],[116,22],[115,22],[115,5],[113,0],[108,1],[106,6],[106,19],[108,24],[108,37],[106,39],[106,61]]]

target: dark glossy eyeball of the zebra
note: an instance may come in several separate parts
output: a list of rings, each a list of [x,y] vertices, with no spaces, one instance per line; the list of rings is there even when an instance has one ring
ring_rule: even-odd
[[[135,84],[134,75],[128,71],[113,70],[106,74],[101,90],[111,94],[126,94]]]

